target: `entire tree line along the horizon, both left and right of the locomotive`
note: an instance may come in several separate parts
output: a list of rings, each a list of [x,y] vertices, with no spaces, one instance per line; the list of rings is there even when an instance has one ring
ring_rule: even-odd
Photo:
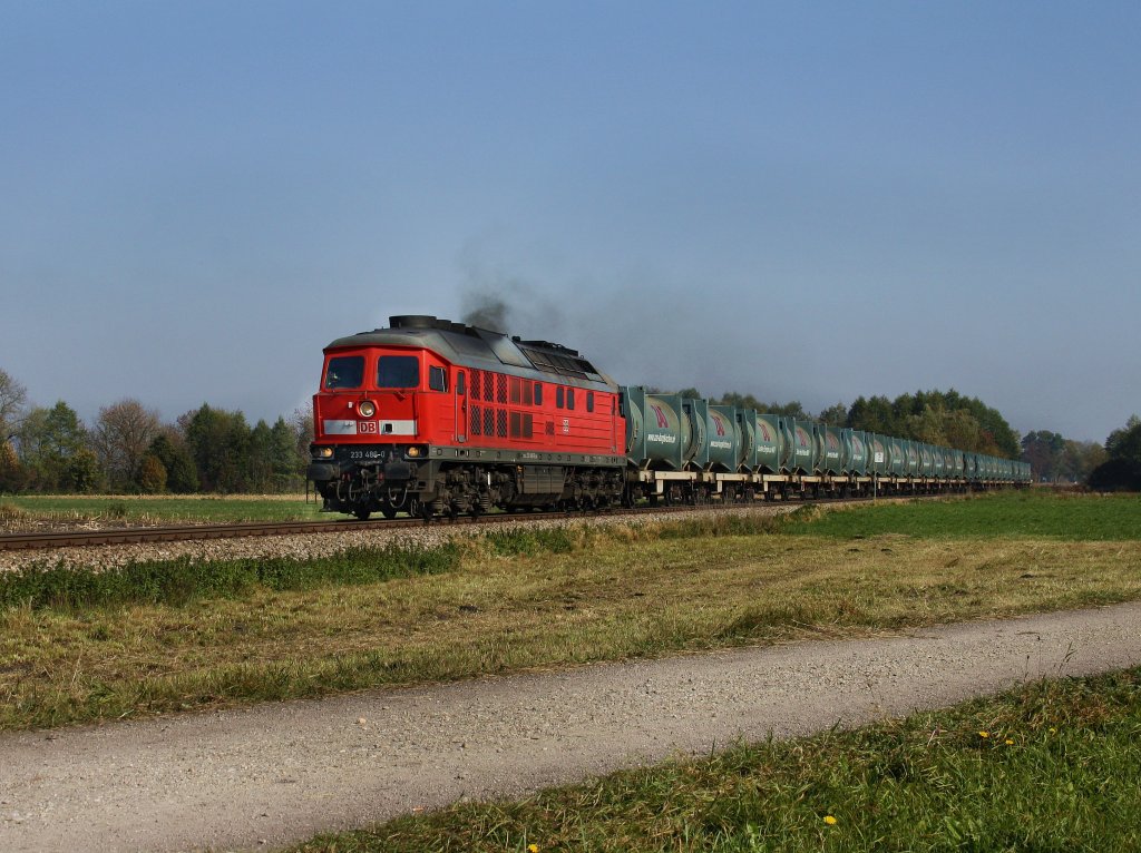
[[[657,392],[658,389],[650,389]],[[1034,479],[1141,490],[1141,419],[1104,445],[1035,430],[1020,437],[995,408],[950,391],[891,400],[859,397],[816,413],[799,400],[766,403],[750,393],[678,393],[711,403],[815,420],[835,426],[1029,462]],[[298,411],[252,426],[241,411],[203,404],[173,423],[127,398],[99,409],[90,425],[63,400],[29,404],[27,390],[0,368],[0,493],[280,493],[305,486],[313,415]]]

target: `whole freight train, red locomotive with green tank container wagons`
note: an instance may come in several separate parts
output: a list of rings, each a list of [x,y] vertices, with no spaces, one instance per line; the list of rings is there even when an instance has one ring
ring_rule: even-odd
[[[330,343],[313,407],[308,478],[359,519],[1030,481],[1023,462],[618,385],[561,344],[431,316]]]

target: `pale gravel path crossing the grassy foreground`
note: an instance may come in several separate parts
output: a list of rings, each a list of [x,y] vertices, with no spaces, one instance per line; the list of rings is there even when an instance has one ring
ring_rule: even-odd
[[[0,736],[0,850],[258,848],[1141,663],[1141,604]]]

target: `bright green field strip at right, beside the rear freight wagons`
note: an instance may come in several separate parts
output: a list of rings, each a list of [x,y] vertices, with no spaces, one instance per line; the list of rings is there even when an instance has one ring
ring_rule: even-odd
[[[1033,537],[1119,542],[1141,539],[1141,495],[1004,492],[964,499],[861,504],[837,512],[809,507],[787,533],[859,538],[901,534],[924,538]]]

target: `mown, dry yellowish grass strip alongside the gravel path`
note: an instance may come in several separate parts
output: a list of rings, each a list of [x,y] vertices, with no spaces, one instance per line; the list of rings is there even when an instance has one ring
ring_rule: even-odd
[[[365,586],[16,608],[0,614],[0,726],[1141,598],[1139,542],[580,535],[564,554],[474,543],[458,572]]]

